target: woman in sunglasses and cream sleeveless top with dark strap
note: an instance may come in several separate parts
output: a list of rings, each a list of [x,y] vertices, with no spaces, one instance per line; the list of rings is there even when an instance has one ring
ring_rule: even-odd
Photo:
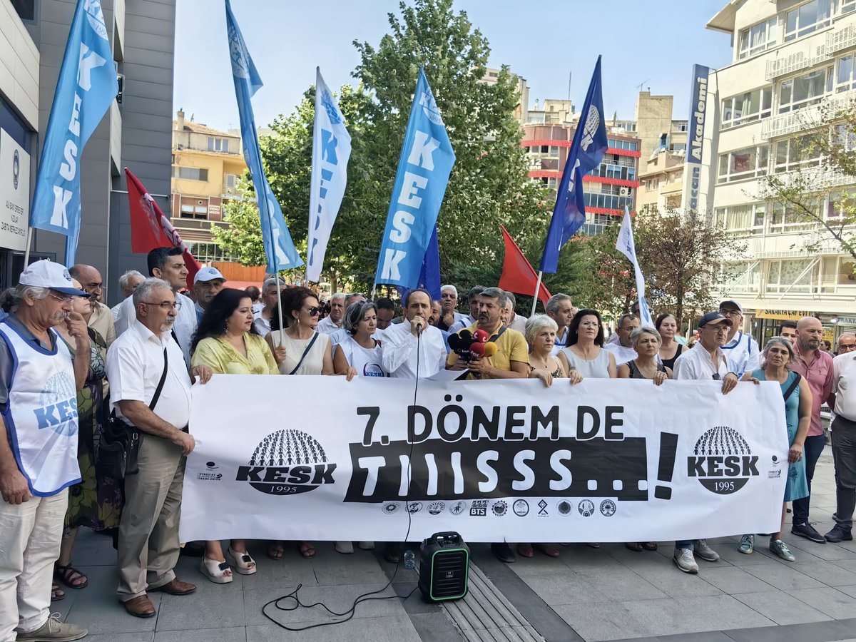
[[[265,336],[273,356],[284,375],[331,375],[333,350],[330,335],[316,332],[321,314],[318,297],[309,288],[288,288],[282,293],[282,323],[279,314],[270,315],[270,334]],[[300,542],[300,555],[307,560],[315,556],[312,542]],[[282,542],[271,542],[268,557],[282,559]]]

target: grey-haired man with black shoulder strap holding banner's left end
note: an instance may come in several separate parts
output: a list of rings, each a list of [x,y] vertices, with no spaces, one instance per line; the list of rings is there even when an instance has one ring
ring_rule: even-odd
[[[195,445],[187,432],[191,377],[206,383],[211,368],[196,366],[188,375],[181,348],[171,336],[178,318],[174,288],[158,278],[140,283],[132,295],[134,324],[107,353],[110,407],[116,417],[145,433],[137,459],[140,470],[125,479],[116,549],[116,593],[134,617],[156,614],[147,591],[187,595],[196,590],[178,580],[173,569],[180,548],[184,458]]]

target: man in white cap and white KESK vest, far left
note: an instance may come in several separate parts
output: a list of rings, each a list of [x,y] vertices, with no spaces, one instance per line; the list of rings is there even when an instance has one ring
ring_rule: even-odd
[[[17,310],[0,321],[0,639],[74,640],[85,628],[51,616],[68,486],[80,482],[77,391],[89,371],[86,321],[62,265],[21,273]],[[76,357],[53,327],[65,324]]]

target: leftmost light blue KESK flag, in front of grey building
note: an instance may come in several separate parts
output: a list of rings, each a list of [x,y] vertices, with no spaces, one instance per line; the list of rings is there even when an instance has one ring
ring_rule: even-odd
[[[118,92],[101,3],[78,0],[56,80],[30,212],[33,228],[68,237],[66,265],[74,265],[80,235],[80,155]]]

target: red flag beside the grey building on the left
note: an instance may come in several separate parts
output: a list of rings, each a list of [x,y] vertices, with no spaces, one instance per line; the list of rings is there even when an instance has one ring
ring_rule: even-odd
[[[125,168],[128,178],[128,205],[131,209],[131,252],[148,253],[155,247],[181,247],[187,265],[187,288],[193,288],[193,276],[202,266],[190,253],[169,218],[155,203],[140,180]]]

